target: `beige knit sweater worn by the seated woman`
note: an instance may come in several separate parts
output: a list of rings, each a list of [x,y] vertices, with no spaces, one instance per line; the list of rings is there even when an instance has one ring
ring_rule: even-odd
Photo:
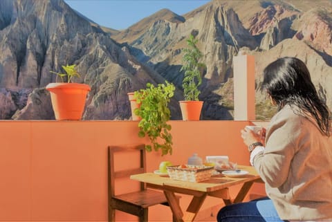
[[[332,136],[285,106],[270,121],[266,149],[253,160],[279,216],[332,221]]]

